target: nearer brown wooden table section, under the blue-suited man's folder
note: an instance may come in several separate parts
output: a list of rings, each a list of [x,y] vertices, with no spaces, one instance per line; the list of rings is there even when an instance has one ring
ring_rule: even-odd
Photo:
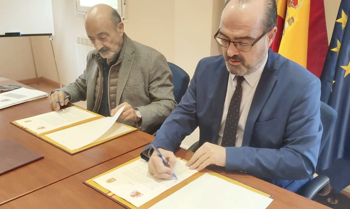
[[[139,156],[144,147],[114,158],[106,163],[100,164],[89,170],[83,171],[62,181],[30,193],[17,200],[0,206],[0,209],[12,208],[124,208],[117,202],[109,199],[93,188],[85,185],[83,181],[101,174],[111,168],[125,163]],[[190,159],[193,152],[180,149],[176,156]],[[300,195],[289,192],[266,181],[250,175],[225,172],[222,168],[213,166],[212,170],[221,173],[229,178],[235,179],[246,185],[255,187],[263,192],[274,195],[268,209],[307,208],[322,209],[328,208],[320,203],[311,201]],[[213,200],[214,201],[214,200]]]

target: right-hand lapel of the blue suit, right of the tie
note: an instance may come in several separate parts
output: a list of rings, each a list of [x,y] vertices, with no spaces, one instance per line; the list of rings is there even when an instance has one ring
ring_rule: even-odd
[[[267,99],[271,95],[277,77],[274,74],[275,55],[272,50],[268,51],[268,59],[264,70],[262,71],[260,81],[258,83],[257,89],[255,91],[252,104],[248,113],[247,121],[244,128],[243,142],[242,146],[249,146],[250,140],[253,133],[254,124],[264,107]]]

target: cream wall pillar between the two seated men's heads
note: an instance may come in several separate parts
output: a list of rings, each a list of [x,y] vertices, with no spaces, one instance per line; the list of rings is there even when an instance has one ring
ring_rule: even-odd
[[[175,1],[175,64],[191,78],[198,61],[210,56],[211,7],[210,0]]]

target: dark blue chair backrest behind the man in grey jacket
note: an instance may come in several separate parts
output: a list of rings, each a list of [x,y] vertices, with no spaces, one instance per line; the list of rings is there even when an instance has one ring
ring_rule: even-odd
[[[187,90],[190,77],[184,70],[181,69],[181,67],[169,62],[168,65],[173,73],[172,84],[174,85],[175,101],[179,104],[182,96]]]

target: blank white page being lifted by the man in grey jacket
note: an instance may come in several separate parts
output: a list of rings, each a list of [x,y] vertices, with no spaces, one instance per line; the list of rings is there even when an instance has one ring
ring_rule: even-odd
[[[113,117],[104,117],[80,125],[76,125],[67,129],[53,132],[45,136],[64,145],[70,150],[76,150],[88,144],[101,140],[102,137],[114,123],[116,123],[123,106]]]

